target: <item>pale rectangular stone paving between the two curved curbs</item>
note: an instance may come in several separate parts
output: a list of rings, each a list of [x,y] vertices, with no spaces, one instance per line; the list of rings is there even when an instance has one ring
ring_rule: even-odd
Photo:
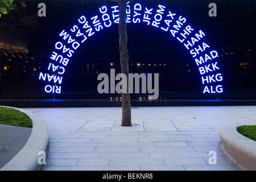
[[[49,133],[43,170],[237,170],[221,154],[219,132],[256,124],[256,106],[133,107],[131,127],[121,107],[26,108]],[[215,151],[217,164],[209,164]]]

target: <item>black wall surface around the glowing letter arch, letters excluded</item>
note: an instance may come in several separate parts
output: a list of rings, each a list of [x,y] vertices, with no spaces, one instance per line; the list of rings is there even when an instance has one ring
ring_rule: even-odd
[[[118,26],[93,35],[76,50],[63,75],[61,94],[44,92],[46,82],[38,80],[47,70],[49,57],[62,30],[77,23],[81,15],[90,18],[99,7],[117,5],[109,1],[25,1],[26,8],[0,18],[1,98],[110,98],[119,94],[98,94],[97,76],[119,72]],[[38,4],[46,4],[46,17],[38,16]],[[135,1],[157,9],[166,6],[203,30],[205,42],[218,51],[218,65],[224,78],[223,93],[203,94],[201,76],[191,55],[176,39],[145,24],[127,24],[131,73],[159,73],[159,99],[255,99],[255,10],[256,2],[234,1]],[[216,3],[217,17],[210,17],[209,3]],[[147,98],[147,94],[131,94]]]

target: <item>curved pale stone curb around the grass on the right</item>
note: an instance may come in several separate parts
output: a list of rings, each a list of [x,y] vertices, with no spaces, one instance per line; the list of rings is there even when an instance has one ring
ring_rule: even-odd
[[[256,142],[237,131],[237,126],[224,127],[220,131],[222,154],[242,170],[256,170]]]

